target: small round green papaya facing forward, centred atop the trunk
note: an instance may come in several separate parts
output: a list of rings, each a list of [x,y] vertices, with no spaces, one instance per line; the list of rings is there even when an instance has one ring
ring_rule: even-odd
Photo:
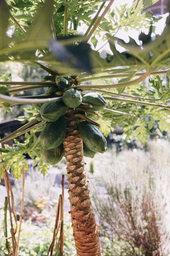
[[[64,92],[62,101],[69,108],[77,108],[82,103],[82,95],[76,89],[71,88]]]

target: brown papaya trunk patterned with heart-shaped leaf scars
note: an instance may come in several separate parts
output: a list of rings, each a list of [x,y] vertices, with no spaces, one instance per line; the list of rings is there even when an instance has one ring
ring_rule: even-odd
[[[83,142],[77,123],[69,110],[67,132],[64,139],[68,194],[71,204],[71,222],[77,256],[101,256],[95,214],[91,205],[90,191],[83,156]]]

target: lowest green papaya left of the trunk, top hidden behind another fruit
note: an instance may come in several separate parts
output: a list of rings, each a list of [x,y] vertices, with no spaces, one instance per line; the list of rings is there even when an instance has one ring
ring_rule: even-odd
[[[40,156],[44,162],[47,164],[57,164],[61,161],[63,157],[63,145],[61,144],[57,148],[46,150],[41,146]]]

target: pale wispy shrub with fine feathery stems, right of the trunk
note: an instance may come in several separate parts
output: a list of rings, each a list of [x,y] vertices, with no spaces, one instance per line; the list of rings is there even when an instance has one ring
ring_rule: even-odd
[[[118,238],[132,255],[165,256],[170,249],[170,143],[150,141],[147,147],[147,152],[122,151],[116,158],[110,151],[109,164],[101,159],[105,191],[93,192],[93,200],[101,236]]]

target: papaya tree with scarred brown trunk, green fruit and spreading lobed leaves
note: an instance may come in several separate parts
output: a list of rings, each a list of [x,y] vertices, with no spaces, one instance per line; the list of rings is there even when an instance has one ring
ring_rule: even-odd
[[[170,19],[157,36],[160,18],[143,12],[155,2],[136,0],[117,7],[114,0],[0,1],[0,61],[46,72],[38,82],[0,81],[1,108],[10,112],[15,105],[30,106],[20,117],[28,122],[0,139],[14,139],[12,147],[1,148],[0,157],[15,178],[21,176],[21,162],[28,168],[26,153],[44,175],[49,164],[66,158],[77,256],[101,255],[84,155],[104,153],[105,137],[116,125],[126,139],[142,142],[155,124],[159,132],[170,131]],[[86,29],[84,35],[78,34],[80,27]],[[130,36],[128,43],[116,37],[128,29],[139,34],[139,43]],[[111,50],[104,57],[96,47],[99,36]],[[37,88],[46,93],[23,96]]]

